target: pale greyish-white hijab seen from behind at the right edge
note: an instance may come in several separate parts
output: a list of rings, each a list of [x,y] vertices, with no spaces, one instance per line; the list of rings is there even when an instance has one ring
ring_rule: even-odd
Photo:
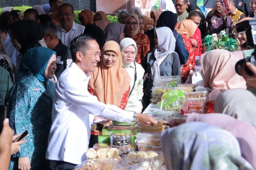
[[[230,89],[215,100],[214,113],[223,113],[256,126],[256,96],[249,90]]]

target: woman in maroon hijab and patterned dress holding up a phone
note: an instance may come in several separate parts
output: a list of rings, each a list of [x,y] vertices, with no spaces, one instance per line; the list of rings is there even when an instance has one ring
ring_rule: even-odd
[[[207,34],[216,33],[221,38],[221,31],[225,30],[228,35],[228,27],[231,26],[231,17],[228,16],[227,0],[218,0],[212,11],[206,16]]]

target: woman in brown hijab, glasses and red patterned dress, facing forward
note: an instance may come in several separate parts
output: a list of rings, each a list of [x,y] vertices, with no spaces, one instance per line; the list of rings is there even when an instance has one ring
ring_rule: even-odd
[[[133,39],[138,48],[135,61],[140,64],[150,49],[148,36],[140,33],[139,17],[134,13],[127,15],[125,20],[125,37]]]

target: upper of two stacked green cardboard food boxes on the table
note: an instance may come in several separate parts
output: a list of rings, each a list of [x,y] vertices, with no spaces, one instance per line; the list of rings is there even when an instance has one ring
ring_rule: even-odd
[[[113,133],[125,133],[136,136],[138,132],[139,127],[135,126],[104,126],[102,129],[103,136],[109,136]]]

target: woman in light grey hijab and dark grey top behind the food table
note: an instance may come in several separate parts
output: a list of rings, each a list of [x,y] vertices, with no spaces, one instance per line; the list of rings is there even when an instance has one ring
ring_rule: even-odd
[[[150,103],[153,81],[159,76],[181,76],[180,59],[175,50],[176,39],[169,27],[155,28],[155,48],[150,50],[142,61],[147,73],[144,81],[143,108]]]

